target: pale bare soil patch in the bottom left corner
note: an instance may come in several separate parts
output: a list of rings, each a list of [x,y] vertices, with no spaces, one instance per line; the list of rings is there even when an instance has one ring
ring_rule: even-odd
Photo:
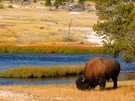
[[[38,97],[28,93],[0,90],[0,101],[74,101],[70,97]]]

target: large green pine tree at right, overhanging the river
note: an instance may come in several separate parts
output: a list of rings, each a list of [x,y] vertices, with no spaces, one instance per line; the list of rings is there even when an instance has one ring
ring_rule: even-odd
[[[94,0],[99,20],[93,29],[103,37],[105,52],[135,61],[135,0]]]

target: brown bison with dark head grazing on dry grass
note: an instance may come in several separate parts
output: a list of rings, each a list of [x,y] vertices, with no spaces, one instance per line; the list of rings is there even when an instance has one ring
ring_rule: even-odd
[[[104,89],[106,80],[112,78],[113,88],[117,88],[117,77],[120,72],[120,64],[116,60],[106,58],[92,58],[85,66],[83,74],[76,80],[78,89],[92,89],[97,85]]]

